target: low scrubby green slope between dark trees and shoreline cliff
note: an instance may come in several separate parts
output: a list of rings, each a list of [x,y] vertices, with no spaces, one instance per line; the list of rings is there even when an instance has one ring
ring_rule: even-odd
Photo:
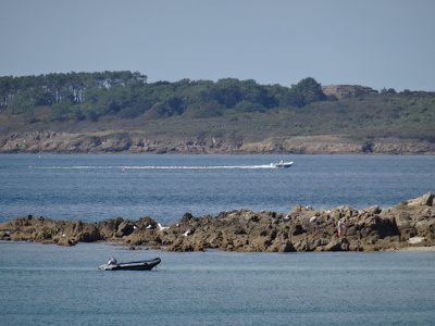
[[[269,137],[344,135],[351,139],[412,138],[435,141],[435,97],[387,95],[316,102],[301,109],[238,113],[212,118],[175,116],[134,120],[105,116],[99,122],[45,122],[49,108],[12,114],[0,110],[0,135],[34,130],[74,134],[140,133],[146,137],[222,137],[260,141]],[[29,122],[33,123],[29,123]],[[36,122],[35,122],[36,121]]]

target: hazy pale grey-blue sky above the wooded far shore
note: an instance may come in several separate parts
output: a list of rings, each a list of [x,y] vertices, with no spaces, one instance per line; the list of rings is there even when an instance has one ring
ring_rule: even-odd
[[[0,0],[0,76],[435,91],[435,0]]]

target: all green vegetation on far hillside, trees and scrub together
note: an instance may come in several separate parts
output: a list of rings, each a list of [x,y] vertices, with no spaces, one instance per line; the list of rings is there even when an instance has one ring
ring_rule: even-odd
[[[337,98],[326,96],[311,77],[285,87],[236,78],[147,83],[137,72],[7,76],[0,77],[0,114],[7,116],[3,122],[20,120],[27,126],[89,126],[110,118],[124,129],[152,121],[147,127],[162,134],[343,134],[369,139],[368,150],[372,137],[435,141],[435,92],[373,93],[356,87]]]

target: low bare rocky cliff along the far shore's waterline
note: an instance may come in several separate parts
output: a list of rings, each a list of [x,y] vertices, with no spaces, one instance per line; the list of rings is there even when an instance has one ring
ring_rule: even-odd
[[[278,154],[433,154],[435,143],[380,138],[366,142],[344,136],[271,137],[262,141],[216,137],[144,137],[140,134],[34,131],[0,140],[0,153],[278,153]]]

